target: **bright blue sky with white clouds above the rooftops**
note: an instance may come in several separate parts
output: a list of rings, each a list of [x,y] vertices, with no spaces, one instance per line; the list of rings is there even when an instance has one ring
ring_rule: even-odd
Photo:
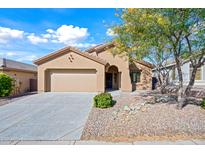
[[[64,46],[112,39],[115,9],[0,9],[0,57],[32,63]]]

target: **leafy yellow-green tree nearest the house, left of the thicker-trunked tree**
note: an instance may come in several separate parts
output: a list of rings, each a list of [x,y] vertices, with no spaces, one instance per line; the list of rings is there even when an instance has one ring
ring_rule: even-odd
[[[123,23],[113,27],[117,34],[116,52],[126,52],[128,57],[146,58],[155,67],[156,77],[161,93],[165,93],[170,69],[168,64],[172,52],[166,36],[161,35],[159,27],[153,27],[156,22],[164,24],[161,15],[154,14],[153,9],[123,9],[118,16]]]

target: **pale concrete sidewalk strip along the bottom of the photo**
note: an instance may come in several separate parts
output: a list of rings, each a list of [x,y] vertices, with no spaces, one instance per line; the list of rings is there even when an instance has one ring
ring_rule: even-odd
[[[136,142],[104,142],[104,141],[0,141],[0,145],[205,145],[205,140],[178,141],[136,141]]]

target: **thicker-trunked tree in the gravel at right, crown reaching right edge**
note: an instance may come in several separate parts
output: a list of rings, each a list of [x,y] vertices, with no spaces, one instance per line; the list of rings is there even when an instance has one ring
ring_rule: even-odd
[[[195,82],[197,69],[205,62],[205,9],[157,9],[166,24],[160,26],[169,40],[179,76],[179,108],[186,103]],[[188,86],[184,88],[182,65],[189,59],[193,70]]]

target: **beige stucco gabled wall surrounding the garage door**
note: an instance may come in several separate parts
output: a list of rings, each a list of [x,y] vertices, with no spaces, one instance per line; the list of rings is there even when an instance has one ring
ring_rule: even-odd
[[[73,57],[70,61],[69,57]],[[64,55],[51,59],[38,66],[38,91],[49,91],[48,85],[50,84],[49,73],[53,69],[95,69],[96,70],[96,92],[104,92],[104,80],[105,80],[105,66],[90,60],[84,56],[81,56],[75,52],[68,52]],[[90,82],[84,83],[83,86],[89,86]],[[47,86],[47,87],[46,87]],[[79,88],[81,88],[79,86]]]

